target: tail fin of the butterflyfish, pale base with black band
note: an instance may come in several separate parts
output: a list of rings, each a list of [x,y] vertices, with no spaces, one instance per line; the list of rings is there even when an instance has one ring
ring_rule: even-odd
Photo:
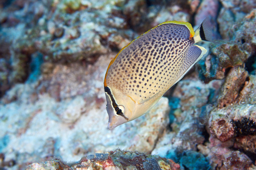
[[[212,42],[212,26],[209,17],[204,19],[203,23],[201,23],[201,26],[195,30],[194,40],[195,43],[202,40]]]

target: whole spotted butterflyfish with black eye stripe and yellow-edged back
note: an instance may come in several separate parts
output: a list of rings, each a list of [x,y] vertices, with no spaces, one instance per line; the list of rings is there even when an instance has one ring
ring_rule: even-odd
[[[190,23],[168,21],[122,48],[104,80],[108,128],[148,112],[206,54],[194,44],[211,37],[208,18],[195,32]]]

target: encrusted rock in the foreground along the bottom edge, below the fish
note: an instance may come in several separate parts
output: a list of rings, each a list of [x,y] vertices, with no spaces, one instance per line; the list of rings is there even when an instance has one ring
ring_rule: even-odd
[[[58,159],[44,163],[34,163],[27,170],[179,170],[179,164],[159,156],[137,152],[115,150],[108,153],[96,153],[83,157],[78,163],[67,164]]]

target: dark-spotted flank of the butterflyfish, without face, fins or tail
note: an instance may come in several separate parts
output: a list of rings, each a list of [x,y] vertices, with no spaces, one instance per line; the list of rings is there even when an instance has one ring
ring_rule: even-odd
[[[186,26],[177,24],[165,24],[148,31],[123,49],[113,62],[106,80],[108,85],[143,99],[159,91],[165,93],[186,71],[186,65],[192,63],[192,59],[189,63],[183,62],[194,43],[189,36]]]

